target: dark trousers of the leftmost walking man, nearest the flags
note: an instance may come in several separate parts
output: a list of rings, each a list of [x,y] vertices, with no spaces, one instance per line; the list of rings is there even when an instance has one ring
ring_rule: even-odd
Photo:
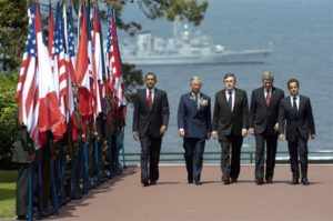
[[[140,138],[140,143],[141,143],[141,179],[158,181],[162,138],[154,138],[148,134]]]

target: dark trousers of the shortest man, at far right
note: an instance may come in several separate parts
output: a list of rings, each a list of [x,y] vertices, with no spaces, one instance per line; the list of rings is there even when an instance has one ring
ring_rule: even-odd
[[[300,178],[299,157],[302,178],[307,178],[307,140],[296,135],[294,141],[287,141],[287,149],[293,178]]]

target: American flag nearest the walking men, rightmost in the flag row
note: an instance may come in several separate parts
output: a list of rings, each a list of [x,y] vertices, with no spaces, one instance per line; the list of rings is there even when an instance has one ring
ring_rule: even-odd
[[[124,93],[124,81],[121,67],[121,57],[117,40],[117,27],[115,27],[115,12],[113,8],[108,9],[108,64],[109,64],[109,77],[111,79],[111,90],[118,107],[127,106],[127,99]]]

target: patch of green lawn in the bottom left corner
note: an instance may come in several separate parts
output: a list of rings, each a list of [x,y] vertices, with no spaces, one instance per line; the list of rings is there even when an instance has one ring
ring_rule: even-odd
[[[0,170],[0,219],[16,217],[17,170]]]

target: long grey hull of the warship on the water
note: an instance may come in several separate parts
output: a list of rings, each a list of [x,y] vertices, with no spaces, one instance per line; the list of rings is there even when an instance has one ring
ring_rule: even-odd
[[[264,63],[270,53],[272,51],[248,50],[241,52],[224,51],[203,56],[124,56],[122,61],[137,66]]]

